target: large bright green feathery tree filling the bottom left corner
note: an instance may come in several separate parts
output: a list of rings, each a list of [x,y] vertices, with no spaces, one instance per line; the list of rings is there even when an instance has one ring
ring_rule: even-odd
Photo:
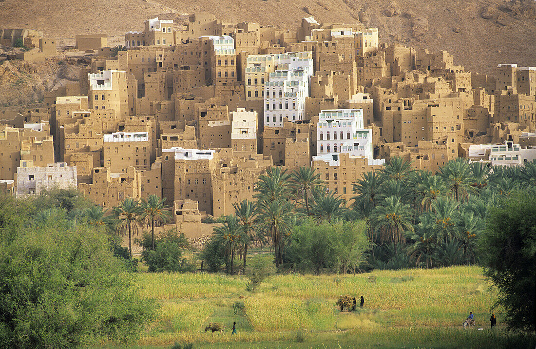
[[[0,222],[0,228],[4,222]],[[0,343],[77,347],[136,339],[157,316],[115,258],[103,228],[66,219],[0,244]],[[21,290],[24,290],[21,292]]]

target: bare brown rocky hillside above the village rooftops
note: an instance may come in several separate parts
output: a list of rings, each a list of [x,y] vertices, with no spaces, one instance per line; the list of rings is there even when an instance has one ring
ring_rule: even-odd
[[[161,13],[207,11],[227,21],[292,28],[302,17],[378,27],[382,41],[448,50],[468,70],[493,72],[497,63],[536,65],[534,0],[0,0],[0,27],[28,27],[56,38],[142,29]]]

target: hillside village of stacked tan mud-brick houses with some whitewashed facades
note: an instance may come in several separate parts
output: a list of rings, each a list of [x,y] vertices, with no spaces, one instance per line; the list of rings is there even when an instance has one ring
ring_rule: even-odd
[[[24,47],[6,60],[57,55],[30,29],[0,29],[0,44]],[[536,159],[536,68],[479,75],[361,24],[307,17],[286,30],[200,12],[147,20],[121,46],[77,35],[69,52],[90,57],[78,81],[0,110],[1,191],[77,187],[103,207],[157,195],[195,237],[272,166],[311,166],[351,204],[352,184],[392,157],[433,173],[457,157]]]

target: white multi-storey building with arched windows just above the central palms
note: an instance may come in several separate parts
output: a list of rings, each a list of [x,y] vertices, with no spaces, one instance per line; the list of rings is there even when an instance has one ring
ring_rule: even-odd
[[[322,110],[316,139],[317,155],[348,153],[373,160],[372,130],[364,128],[362,109]]]

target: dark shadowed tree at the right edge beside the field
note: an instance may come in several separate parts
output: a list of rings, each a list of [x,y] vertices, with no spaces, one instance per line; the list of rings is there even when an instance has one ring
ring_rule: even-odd
[[[536,197],[518,194],[489,213],[481,241],[485,274],[501,290],[496,305],[512,328],[536,330]]]

